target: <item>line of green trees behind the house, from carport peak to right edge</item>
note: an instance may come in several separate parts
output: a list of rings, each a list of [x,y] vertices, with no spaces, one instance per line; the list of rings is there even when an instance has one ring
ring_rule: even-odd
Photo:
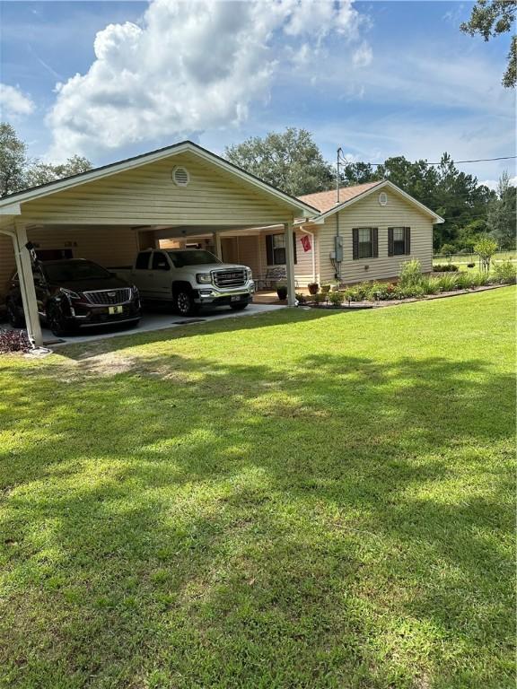
[[[327,191],[336,186],[336,170],[325,161],[311,133],[290,127],[284,133],[253,136],[228,146],[225,157],[244,170],[293,196]],[[443,245],[455,252],[471,252],[481,236],[490,235],[500,249],[515,248],[515,194],[508,173],[496,190],[479,184],[474,175],[458,170],[449,153],[439,165],[425,160],[408,161],[403,155],[380,165],[349,162],[340,184],[353,186],[381,179],[414,196],[441,215],[445,222],[434,226],[434,250]]]

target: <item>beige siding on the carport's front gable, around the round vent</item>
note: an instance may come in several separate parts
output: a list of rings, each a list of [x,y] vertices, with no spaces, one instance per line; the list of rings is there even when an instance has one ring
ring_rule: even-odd
[[[171,170],[183,165],[188,187]],[[249,182],[191,153],[118,172],[22,204],[26,222],[84,224],[248,225],[290,222],[293,211]]]

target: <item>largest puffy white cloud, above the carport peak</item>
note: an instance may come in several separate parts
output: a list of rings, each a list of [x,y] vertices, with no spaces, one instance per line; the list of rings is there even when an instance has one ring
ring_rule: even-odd
[[[332,32],[354,41],[360,23],[352,0],[154,0],[140,24],[99,31],[88,72],[57,84],[48,157],[239,124],[280,60],[303,62]]]

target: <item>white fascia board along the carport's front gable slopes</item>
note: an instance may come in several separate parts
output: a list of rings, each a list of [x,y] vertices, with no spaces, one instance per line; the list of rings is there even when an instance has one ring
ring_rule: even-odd
[[[105,177],[110,177],[110,175],[117,174],[118,172],[124,172],[126,170],[133,170],[135,168],[141,167],[142,165],[148,165],[151,162],[161,161],[164,158],[170,158],[180,153],[194,153],[199,158],[202,158],[208,162],[213,163],[217,167],[226,170],[235,177],[239,177],[249,184],[262,189],[270,196],[276,196],[283,203],[290,205],[293,209],[297,211],[302,211],[307,217],[314,217],[318,215],[318,211],[312,208],[311,205],[304,204],[302,201],[296,201],[293,197],[284,194],[284,192],[279,189],[269,187],[265,182],[260,179],[249,175],[244,170],[239,170],[235,168],[231,163],[223,161],[223,159],[218,156],[206,151],[200,146],[191,144],[190,142],[185,142],[183,144],[177,144],[176,146],[171,146],[171,148],[157,151],[156,153],[148,153],[147,155],[138,156],[136,159],[129,161],[121,161],[114,163],[107,168],[102,168],[100,170],[92,170],[91,172],[86,172],[79,178],[73,179],[62,179],[57,180],[51,185],[46,185],[43,188],[28,189],[26,192],[16,196],[14,203],[19,205],[24,201],[31,201],[40,196],[49,196],[50,194],[55,194],[57,191],[63,191],[65,189],[78,187],[87,182],[92,182],[96,179],[103,179]],[[9,198],[0,199],[0,212],[4,205],[10,205],[13,202]]]

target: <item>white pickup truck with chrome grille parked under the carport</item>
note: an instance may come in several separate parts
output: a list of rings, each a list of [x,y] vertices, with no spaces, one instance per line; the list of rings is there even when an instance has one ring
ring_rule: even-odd
[[[134,266],[109,270],[135,284],[144,301],[170,301],[181,316],[202,306],[246,309],[255,292],[249,267],[223,263],[202,249],[145,249]]]

